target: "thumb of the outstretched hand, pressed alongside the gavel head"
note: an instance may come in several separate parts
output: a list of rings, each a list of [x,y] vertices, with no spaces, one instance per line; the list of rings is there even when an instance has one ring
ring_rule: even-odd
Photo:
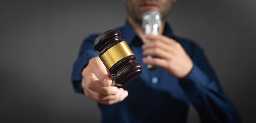
[[[101,84],[106,87],[111,85],[112,80],[109,78],[109,73],[99,57],[94,57],[90,63],[90,68],[92,72],[97,76]]]

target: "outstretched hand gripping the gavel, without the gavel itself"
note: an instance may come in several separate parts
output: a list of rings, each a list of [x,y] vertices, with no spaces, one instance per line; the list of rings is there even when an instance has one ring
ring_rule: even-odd
[[[123,101],[128,96],[123,88],[111,86],[109,72],[99,57],[89,61],[82,71],[82,77],[84,94],[98,103],[110,105]]]

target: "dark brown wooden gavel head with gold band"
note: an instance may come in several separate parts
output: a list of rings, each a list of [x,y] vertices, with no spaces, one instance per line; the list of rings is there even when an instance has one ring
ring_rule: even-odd
[[[109,30],[99,35],[94,41],[94,50],[100,52],[99,57],[113,80],[117,84],[125,85],[142,73],[142,65],[135,62],[133,54],[121,33]]]

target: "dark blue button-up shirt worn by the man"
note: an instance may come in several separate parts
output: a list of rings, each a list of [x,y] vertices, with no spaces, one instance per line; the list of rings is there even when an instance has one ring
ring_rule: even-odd
[[[137,62],[142,63],[142,40],[126,21],[121,32]],[[163,35],[176,40],[193,60],[194,66],[185,78],[177,79],[163,68],[149,71],[143,64],[142,74],[131,83],[121,86],[129,95],[120,103],[99,104],[102,122],[186,122],[189,104],[199,113],[202,122],[240,122],[235,106],[221,89],[218,79],[202,49],[190,40],[177,37],[166,24]],[[93,49],[97,35],[84,40],[79,58],[74,63],[72,83],[78,93],[81,72],[88,61],[99,55]]]

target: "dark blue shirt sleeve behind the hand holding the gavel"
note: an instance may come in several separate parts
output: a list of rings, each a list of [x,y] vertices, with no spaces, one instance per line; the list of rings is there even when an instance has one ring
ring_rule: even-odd
[[[82,70],[85,68],[89,62],[89,60],[93,57],[99,56],[99,53],[94,51],[93,44],[94,40],[98,35],[91,35],[87,39],[84,40],[81,49],[79,51],[78,59],[75,61],[73,65],[72,71],[72,84],[75,92],[84,93],[81,82],[82,82]]]

